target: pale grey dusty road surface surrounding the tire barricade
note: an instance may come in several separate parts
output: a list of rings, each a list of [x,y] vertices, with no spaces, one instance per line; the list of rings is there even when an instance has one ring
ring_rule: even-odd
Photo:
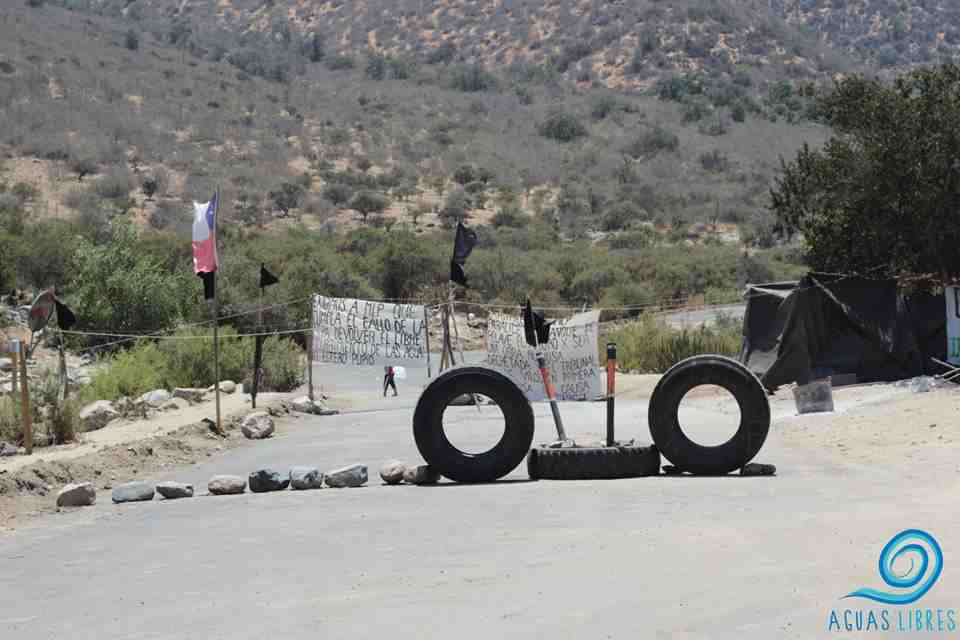
[[[696,402],[685,424],[716,429],[728,409]],[[409,409],[281,421],[270,441],[156,479],[365,462],[370,486],[101,495],[0,538],[0,625],[17,639],[832,637],[831,612],[882,608],[841,598],[884,587],[881,548],[907,528],[944,555],[911,607],[955,611],[960,392],[863,387],[836,402],[796,417],[775,399],[760,456],[775,478],[527,482],[520,469],[491,485],[385,487],[382,461],[418,458]],[[491,425],[455,411],[466,440]],[[619,401],[623,437],[646,437],[645,411],[642,397]],[[602,405],[564,412],[576,437],[600,437]],[[536,413],[549,440],[549,412]]]

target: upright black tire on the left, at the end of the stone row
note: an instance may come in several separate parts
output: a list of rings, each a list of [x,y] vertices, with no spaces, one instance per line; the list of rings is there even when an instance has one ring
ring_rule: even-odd
[[[465,393],[483,394],[503,413],[500,441],[489,451],[466,453],[443,430],[443,412]],[[483,367],[451,369],[427,385],[413,413],[413,437],[427,464],[456,482],[493,482],[523,462],[533,442],[533,409],[523,392],[502,373]]]

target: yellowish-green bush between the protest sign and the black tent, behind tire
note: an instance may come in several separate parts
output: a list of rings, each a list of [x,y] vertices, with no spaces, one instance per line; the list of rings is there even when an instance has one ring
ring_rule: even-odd
[[[601,343],[617,343],[621,368],[640,373],[662,373],[690,356],[715,353],[734,357],[740,351],[739,325],[676,330],[645,315],[637,322],[604,335]]]

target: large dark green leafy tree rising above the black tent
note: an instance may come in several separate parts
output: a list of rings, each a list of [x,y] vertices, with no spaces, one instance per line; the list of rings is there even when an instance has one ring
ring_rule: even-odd
[[[818,98],[834,135],[783,164],[781,231],[832,272],[960,276],[960,66],[893,84],[859,76]]]

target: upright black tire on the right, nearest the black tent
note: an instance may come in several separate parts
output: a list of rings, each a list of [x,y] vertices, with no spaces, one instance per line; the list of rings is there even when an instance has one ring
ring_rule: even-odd
[[[740,425],[727,442],[707,447],[683,433],[677,410],[690,389],[712,384],[723,387],[740,406]],[[694,356],[670,367],[650,397],[650,435],[663,457],[681,471],[700,475],[725,474],[750,462],[767,439],[770,404],[760,380],[746,367],[723,356]]]

